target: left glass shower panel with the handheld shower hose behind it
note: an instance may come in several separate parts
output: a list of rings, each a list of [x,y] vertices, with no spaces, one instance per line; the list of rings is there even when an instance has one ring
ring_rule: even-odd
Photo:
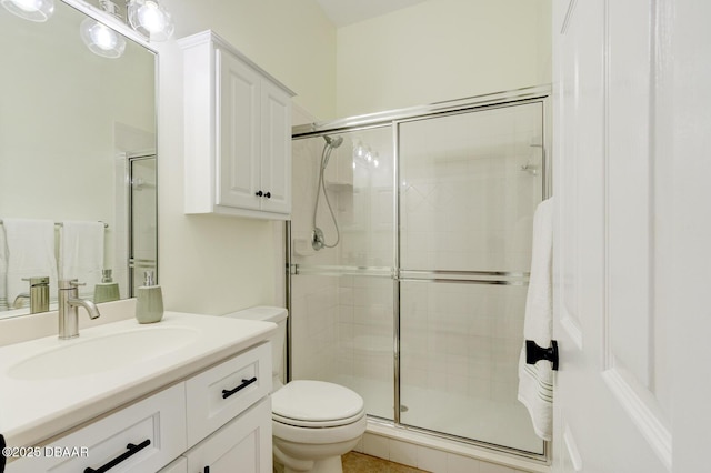
[[[389,420],[394,412],[392,148],[390,125],[293,141],[290,262],[291,379],[350,388],[363,397],[369,415]],[[314,228],[321,234],[316,246]]]

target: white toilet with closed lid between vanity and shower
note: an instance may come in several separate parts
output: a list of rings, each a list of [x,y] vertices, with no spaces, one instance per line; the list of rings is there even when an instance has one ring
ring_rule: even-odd
[[[365,432],[363,399],[348,388],[323,381],[282,384],[287,310],[258,306],[227,314],[236,319],[274,322],[272,343],[272,451],[284,473],[342,473],[341,455]]]

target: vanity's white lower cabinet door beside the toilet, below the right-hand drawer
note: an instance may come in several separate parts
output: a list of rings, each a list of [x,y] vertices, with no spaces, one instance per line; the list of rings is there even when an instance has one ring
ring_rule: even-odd
[[[271,473],[271,399],[263,399],[184,456],[189,472]]]

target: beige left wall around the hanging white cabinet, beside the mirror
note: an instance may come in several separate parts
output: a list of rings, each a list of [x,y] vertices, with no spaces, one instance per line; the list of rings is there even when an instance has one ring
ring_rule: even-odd
[[[336,111],[336,29],[313,0],[171,0],[176,38],[212,29],[323,118]],[[159,276],[169,310],[221,314],[281,301],[280,224],[183,213],[182,62],[159,44]]]

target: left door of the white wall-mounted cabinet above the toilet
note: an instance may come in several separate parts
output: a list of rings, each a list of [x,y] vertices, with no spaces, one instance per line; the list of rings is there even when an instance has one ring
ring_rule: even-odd
[[[258,210],[261,157],[261,77],[228,51],[218,49],[216,101],[217,204]]]

